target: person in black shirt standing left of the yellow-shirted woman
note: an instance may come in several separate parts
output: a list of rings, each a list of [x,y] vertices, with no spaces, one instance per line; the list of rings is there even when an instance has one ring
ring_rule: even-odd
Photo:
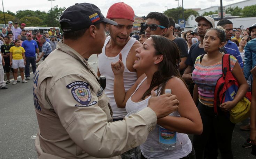
[[[6,77],[7,82],[6,84],[10,83],[10,48],[14,46],[14,44],[10,43],[10,37],[5,36],[4,38],[5,44],[0,47],[1,53],[3,54],[3,59],[5,60],[5,71],[6,71]],[[13,72],[13,71],[12,71]]]

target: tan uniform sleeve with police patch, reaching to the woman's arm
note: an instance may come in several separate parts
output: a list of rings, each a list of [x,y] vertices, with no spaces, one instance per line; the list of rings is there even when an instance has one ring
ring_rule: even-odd
[[[146,141],[156,125],[155,112],[147,107],[123,121],[110,123],[108,99],[97,95],[84,78],[69,75],[55,82],[47,94],[70,138],[86,153],[98,158],[118,156]]]

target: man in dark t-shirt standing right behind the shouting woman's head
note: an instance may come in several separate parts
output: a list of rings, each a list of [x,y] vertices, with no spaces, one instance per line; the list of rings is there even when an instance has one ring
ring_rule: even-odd
[[[174,27],[175,27],[175,22],[172,18],[169,17],[169,27],[164,36],[171,39],[174,43],[176,43],[176,45],[178,46],[178,48],[180,50],[180,63],[179,63],[180,67],[179,67],[179,69],[180,69],[180,73],[182,74],[183,70],[187,67],[185,64],[185,61],[188,56],[187,43],[184,40],[184,38],[175,37],[173,35]]]

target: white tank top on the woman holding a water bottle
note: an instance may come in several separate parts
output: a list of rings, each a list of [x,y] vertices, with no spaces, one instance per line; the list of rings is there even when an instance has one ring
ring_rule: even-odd
[[[147,77],[145,77],[136,90],[140,87],[140,85],[145,81]],[[159,89],[159,91],[161,88]],[[133,94],[134,94],[133,92]],[[155,90],[157,94],[157,90]],[[132,96],[133,96],[132,94]],[[131,97],[132,97],[131,96]],[[141,110],[148,105],[148,100],[150,99],[151,96],[146,98],[145,100],[139,101],[137,103],[133,102],[131,100],[131,97],[127,100],[125,109],[127,113],[130,113],[131,111],[134,110]],[[178,111],[173,112],[170,114],[170,116],[180,116]],[[173,150],[163,150],[161,148],[161,145],[159,144],[159,125],[156,124],[155,129],[148,134],[147,140],[140,145],[141,152],[143,156],[145,156],[148,159],[156,159],[156,158],[161,158],[161,159],[179,159],[187,156],[191,151],[192,151],[192,144],[190,139],[188,138],[187,134],[183,133],[178,133],[177,132],[177,142],[176,142],[176,147]]]

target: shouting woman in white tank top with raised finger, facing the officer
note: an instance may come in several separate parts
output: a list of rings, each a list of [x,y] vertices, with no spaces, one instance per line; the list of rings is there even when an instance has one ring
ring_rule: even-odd
[[[178,71],[179,49],[170,39],[152,35],[143,46],[136,50],[137,61],[134,69],[144,71],[135,84],[127,91],[123,85],[124,65],[122,56],[119,61],[111,63],[115,74],[114,96],[120,108],[126,108],[127,113],[140,110],[147,106],[150,92],[164,94],[165,89],[171,89],[178,97],[179,110],[175,116],[158,119],[157,126],[149,133],[148,139],[141,145],[141,158],[144,159],[180,159],[195,158],[191,141],[187,134],[201,134],[202,121],[185,82]],[[173,114],[173,113],[172,113]],[[173,150],[163,150],[158,141],[159,125],[177,132],[176,147]]]

